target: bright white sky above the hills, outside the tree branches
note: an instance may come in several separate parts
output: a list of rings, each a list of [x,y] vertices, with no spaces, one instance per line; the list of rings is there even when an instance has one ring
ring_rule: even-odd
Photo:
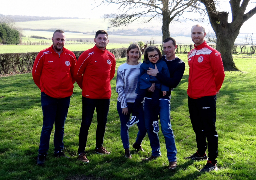
[[[221,0],[217,10],[229,10],[228,2],[229,0]],[[256,3],[250,6],[254,7]],[[94,0],[0,0],[0,14],[4,15],[100,18],[104,14],[115,13],[117,7],[114,5],[96,7]],[[256,35],[255,22],[256,15],[244,23],[240,32]],[[161,27],[161,22],[159,23]]]

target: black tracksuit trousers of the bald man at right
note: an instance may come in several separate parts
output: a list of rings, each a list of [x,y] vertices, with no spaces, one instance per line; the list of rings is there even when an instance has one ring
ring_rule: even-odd
[[[196,134],[197,149],[203,155],[208,141],[209,160],[216,162],[218,156],[218,134],[216,122],[216,96],[205,96],[199,99],[188,97],[191,123]]]

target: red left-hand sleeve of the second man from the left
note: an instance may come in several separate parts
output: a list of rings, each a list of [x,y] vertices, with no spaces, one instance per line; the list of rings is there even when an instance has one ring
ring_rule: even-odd
[[[91,54],[88,54],[87,52],[82,53],[77,61],[77,65],[75,67],[74,71],[74,77],[78,84],[78,86],[83,89],[83,75],[86,70],[88,61],[90,59]]]

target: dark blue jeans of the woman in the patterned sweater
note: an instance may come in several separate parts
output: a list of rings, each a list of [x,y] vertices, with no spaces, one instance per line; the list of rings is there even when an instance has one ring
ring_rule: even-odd
[[[129,132],[128,132],[128,127],[126,126],[126,123],[130,119],[130,114],[132,113],[134,103],[127,103],[128,106],[128,114],[124,115],[122,113],[122,108],[121,108],[121,103],[117,101],[117,111],[120,117],[120,122],[121,122],[121,139],[123,142],[123,147],[124,149],[129,148]],[[146,127],[145,127],[145,122],[144,122],[144,113],[143,113],[143,106],[138,107],[138,118],[139,122],[137,123],[137,126],[139,128],[139,132],[137,134],[136,142],[135,144],[141,144],[143,138],[146,136]]]

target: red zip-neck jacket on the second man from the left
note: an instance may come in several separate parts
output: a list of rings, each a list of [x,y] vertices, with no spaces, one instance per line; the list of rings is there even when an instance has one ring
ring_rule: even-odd
[[[110,99],[110,80],[115,75],[115,56],[97,46],[83,52],[77,62],[75,79],[82,96],[90,99]]]

